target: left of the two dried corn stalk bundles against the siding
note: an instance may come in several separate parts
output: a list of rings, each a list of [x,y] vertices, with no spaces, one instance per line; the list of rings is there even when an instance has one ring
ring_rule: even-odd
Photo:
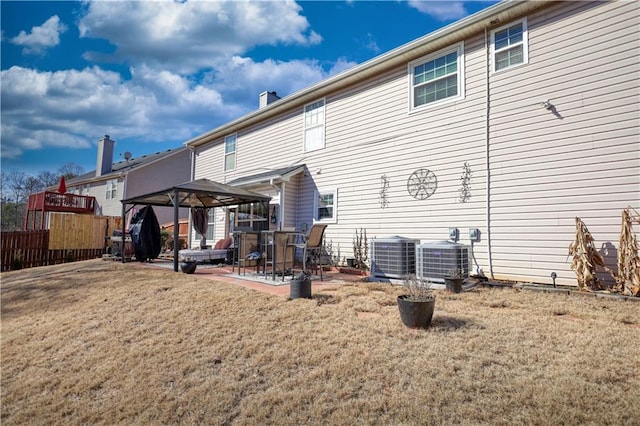
[[[581,290],[602,289],[596,276],[596,265],[605,267],[604,260],[596,250],[587,225],[579,217],[576,217],[576,239],[569,245],[569,255],[573,256],[571,269],[578,278],[578,287]]]

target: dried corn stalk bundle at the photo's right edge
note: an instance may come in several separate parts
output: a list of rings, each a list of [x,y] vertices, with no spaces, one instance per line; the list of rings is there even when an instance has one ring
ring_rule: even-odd
[[[622,210],[622,228],[618,248],[618,276],[616,289],[623,294],[640,296],[640,256],[633,222],[640,224],[640,214],[628,207]]]

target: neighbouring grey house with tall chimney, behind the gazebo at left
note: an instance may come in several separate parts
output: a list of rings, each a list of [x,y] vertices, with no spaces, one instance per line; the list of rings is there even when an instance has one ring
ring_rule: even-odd
[[[99,139],[96,170],[66,182],[67,192],[95,197],[97,215],[121,216],[120,200],[190,180],[191,159],[185,147],[141,157],[132,157],[127,152],[123,154],[124,160],[114,163],[115,143],[109,135]],[[172,209],[154,208],[154,212],[160,224],[173,224]],[[180,211],[181,218],[188,216],[187,210]]]

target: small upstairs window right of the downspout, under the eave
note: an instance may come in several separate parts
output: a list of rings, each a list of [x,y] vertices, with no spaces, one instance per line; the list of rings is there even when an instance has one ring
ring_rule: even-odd
[[[491,50],[494,72],[529,62],[526,18],[492,31]]]

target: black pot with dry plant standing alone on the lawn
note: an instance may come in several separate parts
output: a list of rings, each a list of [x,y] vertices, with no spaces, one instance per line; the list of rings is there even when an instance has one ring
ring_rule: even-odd
[[[427,328],[433,318],[436,297],[431,292],[431,282],[415,275],[404,277],[406,294],[398,296],[398,309],[402,323],[409,328]]]

